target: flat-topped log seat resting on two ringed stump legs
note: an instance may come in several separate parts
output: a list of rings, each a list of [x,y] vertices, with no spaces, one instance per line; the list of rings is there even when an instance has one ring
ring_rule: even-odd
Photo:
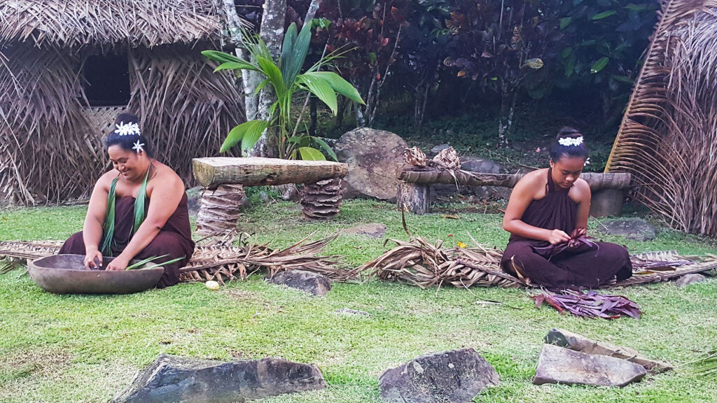
[[[206,188],[221,184],[267,186],[315,183],[342,178],[348,173],[346,163],[331,161],[295,161],[280,158],[209,157],[192,160],[194,178]]]

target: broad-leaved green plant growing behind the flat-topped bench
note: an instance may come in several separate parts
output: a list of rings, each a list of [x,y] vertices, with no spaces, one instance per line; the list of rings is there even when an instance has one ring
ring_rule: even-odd
[[[249,120],[232,128],[222,143],[220,152],[229,151],[230,148],[241,143],[242,153],[246,153],[259,141],[264,131],[269,131],[272,139],[270,143],[275,146],[279,158],[325,160],[326,157],[318,149],[321,148],[336,160],[336,154],[325,141],[306,133],[298,133],[298,125],[293,121],[291,114],[293,96],[299,93],[313,94],[325,103],[334,115],[338,108],[337,95],[343,95],[360,104],[364,104],[364,100],[361,99],[356,88],[336,72],[320,71],[322,67],[330,66],[333,60],[345,53],[341,49],[321,57],[308,70],[300,72],[309,49],[311,27],[312,21],[305,22],[301,32],[298,32],[296,24],[289,26],[284,36],[279,60],[273,60],[262,39],[248,32],[242,34],[242,47],[250,54],[251,61],[214,50],[201,52],[210,60],[221,63],[214,70],[215,72],[234,70],[241,74],[242,71],[248,70],[259,73],[265,78],[257,87],[257,93],[269,85],[276,95],[276,101],[270,106],[267,120]],[[300,118],[301,116],[298,120]]]

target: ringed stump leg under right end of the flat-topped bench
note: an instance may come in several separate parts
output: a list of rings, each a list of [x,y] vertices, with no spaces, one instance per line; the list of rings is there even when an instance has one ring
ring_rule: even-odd
[[[305,219],[330,219],[338,214],[342,200],[341,178],[304,184],[301,190],[301,212]]]

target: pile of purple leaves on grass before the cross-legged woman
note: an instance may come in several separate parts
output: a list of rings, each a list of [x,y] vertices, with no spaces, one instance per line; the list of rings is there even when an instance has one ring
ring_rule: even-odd
[[[561,314],[567,312],[582,318],[617,319],[620,316],[629,316],[640,319],[642,314],[640,306],[622,295],[602,295],[595,291],[588,293],[571,290],[564,290],[561,293],[543,291],[532,295],[531,299],[536,301],[536,308],[547,303]]]

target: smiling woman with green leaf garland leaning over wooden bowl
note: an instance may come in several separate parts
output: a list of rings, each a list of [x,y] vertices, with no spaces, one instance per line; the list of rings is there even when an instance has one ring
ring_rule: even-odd
[[[73,234],[60,253],[85,255],[85,267],[102,265],[103,256],[115,256],[106,270],[125,270],[130,260],[162,257],[157,287],[179,282],[179,267],[194,253],[186,193],[181,178],[153,158],[136,115],[120,113],[105,146],[113,170],[95,184],[82,232]],[[140,212],[135,214],[135,210]]]

